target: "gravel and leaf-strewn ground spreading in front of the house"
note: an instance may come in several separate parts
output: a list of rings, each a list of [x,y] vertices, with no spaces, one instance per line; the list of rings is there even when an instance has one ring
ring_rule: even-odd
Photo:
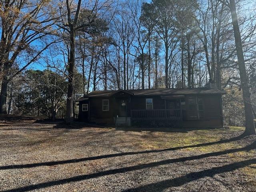
[[[0,191],[255,192],[256,136],[242,132],[0,118]]]

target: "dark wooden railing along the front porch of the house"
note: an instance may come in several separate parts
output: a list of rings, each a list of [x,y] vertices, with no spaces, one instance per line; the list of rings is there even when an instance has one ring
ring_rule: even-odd
[[[131,110],[132,118],[172,118],[181,119],[180,109],[153,109],[153,110]]]

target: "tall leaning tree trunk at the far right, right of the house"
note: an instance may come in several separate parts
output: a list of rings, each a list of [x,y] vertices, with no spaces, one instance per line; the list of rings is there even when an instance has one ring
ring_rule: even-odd
[[[243,91],[243,99],[244,99],[244,110],[245,110],[245,120],[246,120],[246,129],[245,134],[256,134],[254,128],[254,121],[253,121],[253,112],[252,112],[252,103],[250,98],[250,90],[248,86],[248,77],[246,74],[246,67],[244,63],[244,53],[242,49],[242,40],[240,29],[237,20],[236,14],[236,4],[234,0],[229,0],[230,2],[230,12],[232,17],[232,25],[234,29],[234,37],[236,43],[236,53],[238,58],[238,69],[241,78],[241,86]]]

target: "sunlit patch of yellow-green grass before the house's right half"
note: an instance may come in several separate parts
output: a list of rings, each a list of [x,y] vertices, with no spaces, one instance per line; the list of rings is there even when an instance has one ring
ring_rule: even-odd
[[[241,128],[234,128],[234,130],[241,130]],[[233,130],[232,130],[233,131]],[[154,137],[148,137],[138,141],[138,146],[146,150],[165,149],[184,147],[182,150],[187,151],[201,151],[205,153],[224,151],[228,149],[240,148],[241,146],[236,142],[227,142],[221,144],[210,144],[218,142],[223,139],[223,134],[232,132],[230,129],[204,129],[192,130],[188,132],[156,132]],[[196,145],[200,145],[196,147]],[[204,145],[205,144],[205,145]],[[188,146],[186,148],[186,146]],[[194,146],[194,147],[189,147]]]

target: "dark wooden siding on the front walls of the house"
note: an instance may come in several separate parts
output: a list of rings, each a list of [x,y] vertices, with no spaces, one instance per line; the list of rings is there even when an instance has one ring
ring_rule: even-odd
[[[183,120],[183,127],[222,127],[222,108],[221,108],[221,95],[186,95],[186,114],[188,117],[188,97],[202,98],[204,106],[204,116],[200,119]],[[165,109],[165,100],[160,96],[129,96],[128,103],[128,116],[130,116],[130,110],[145,110],[146,98],[153,99],[153,109]],[[102,111],[102,100],[109,100],[109,111]],[[111,98],[90,98],[89,102],[79,102],[79,119],[82,121],[90,121],[96,123],[113,124],[114,117],[117,115],[117,101],[120,98],[112,96]],[[121,98],[122,99],[122,98]],[[82,112],[82,104],[88,103],[88,112]]]

